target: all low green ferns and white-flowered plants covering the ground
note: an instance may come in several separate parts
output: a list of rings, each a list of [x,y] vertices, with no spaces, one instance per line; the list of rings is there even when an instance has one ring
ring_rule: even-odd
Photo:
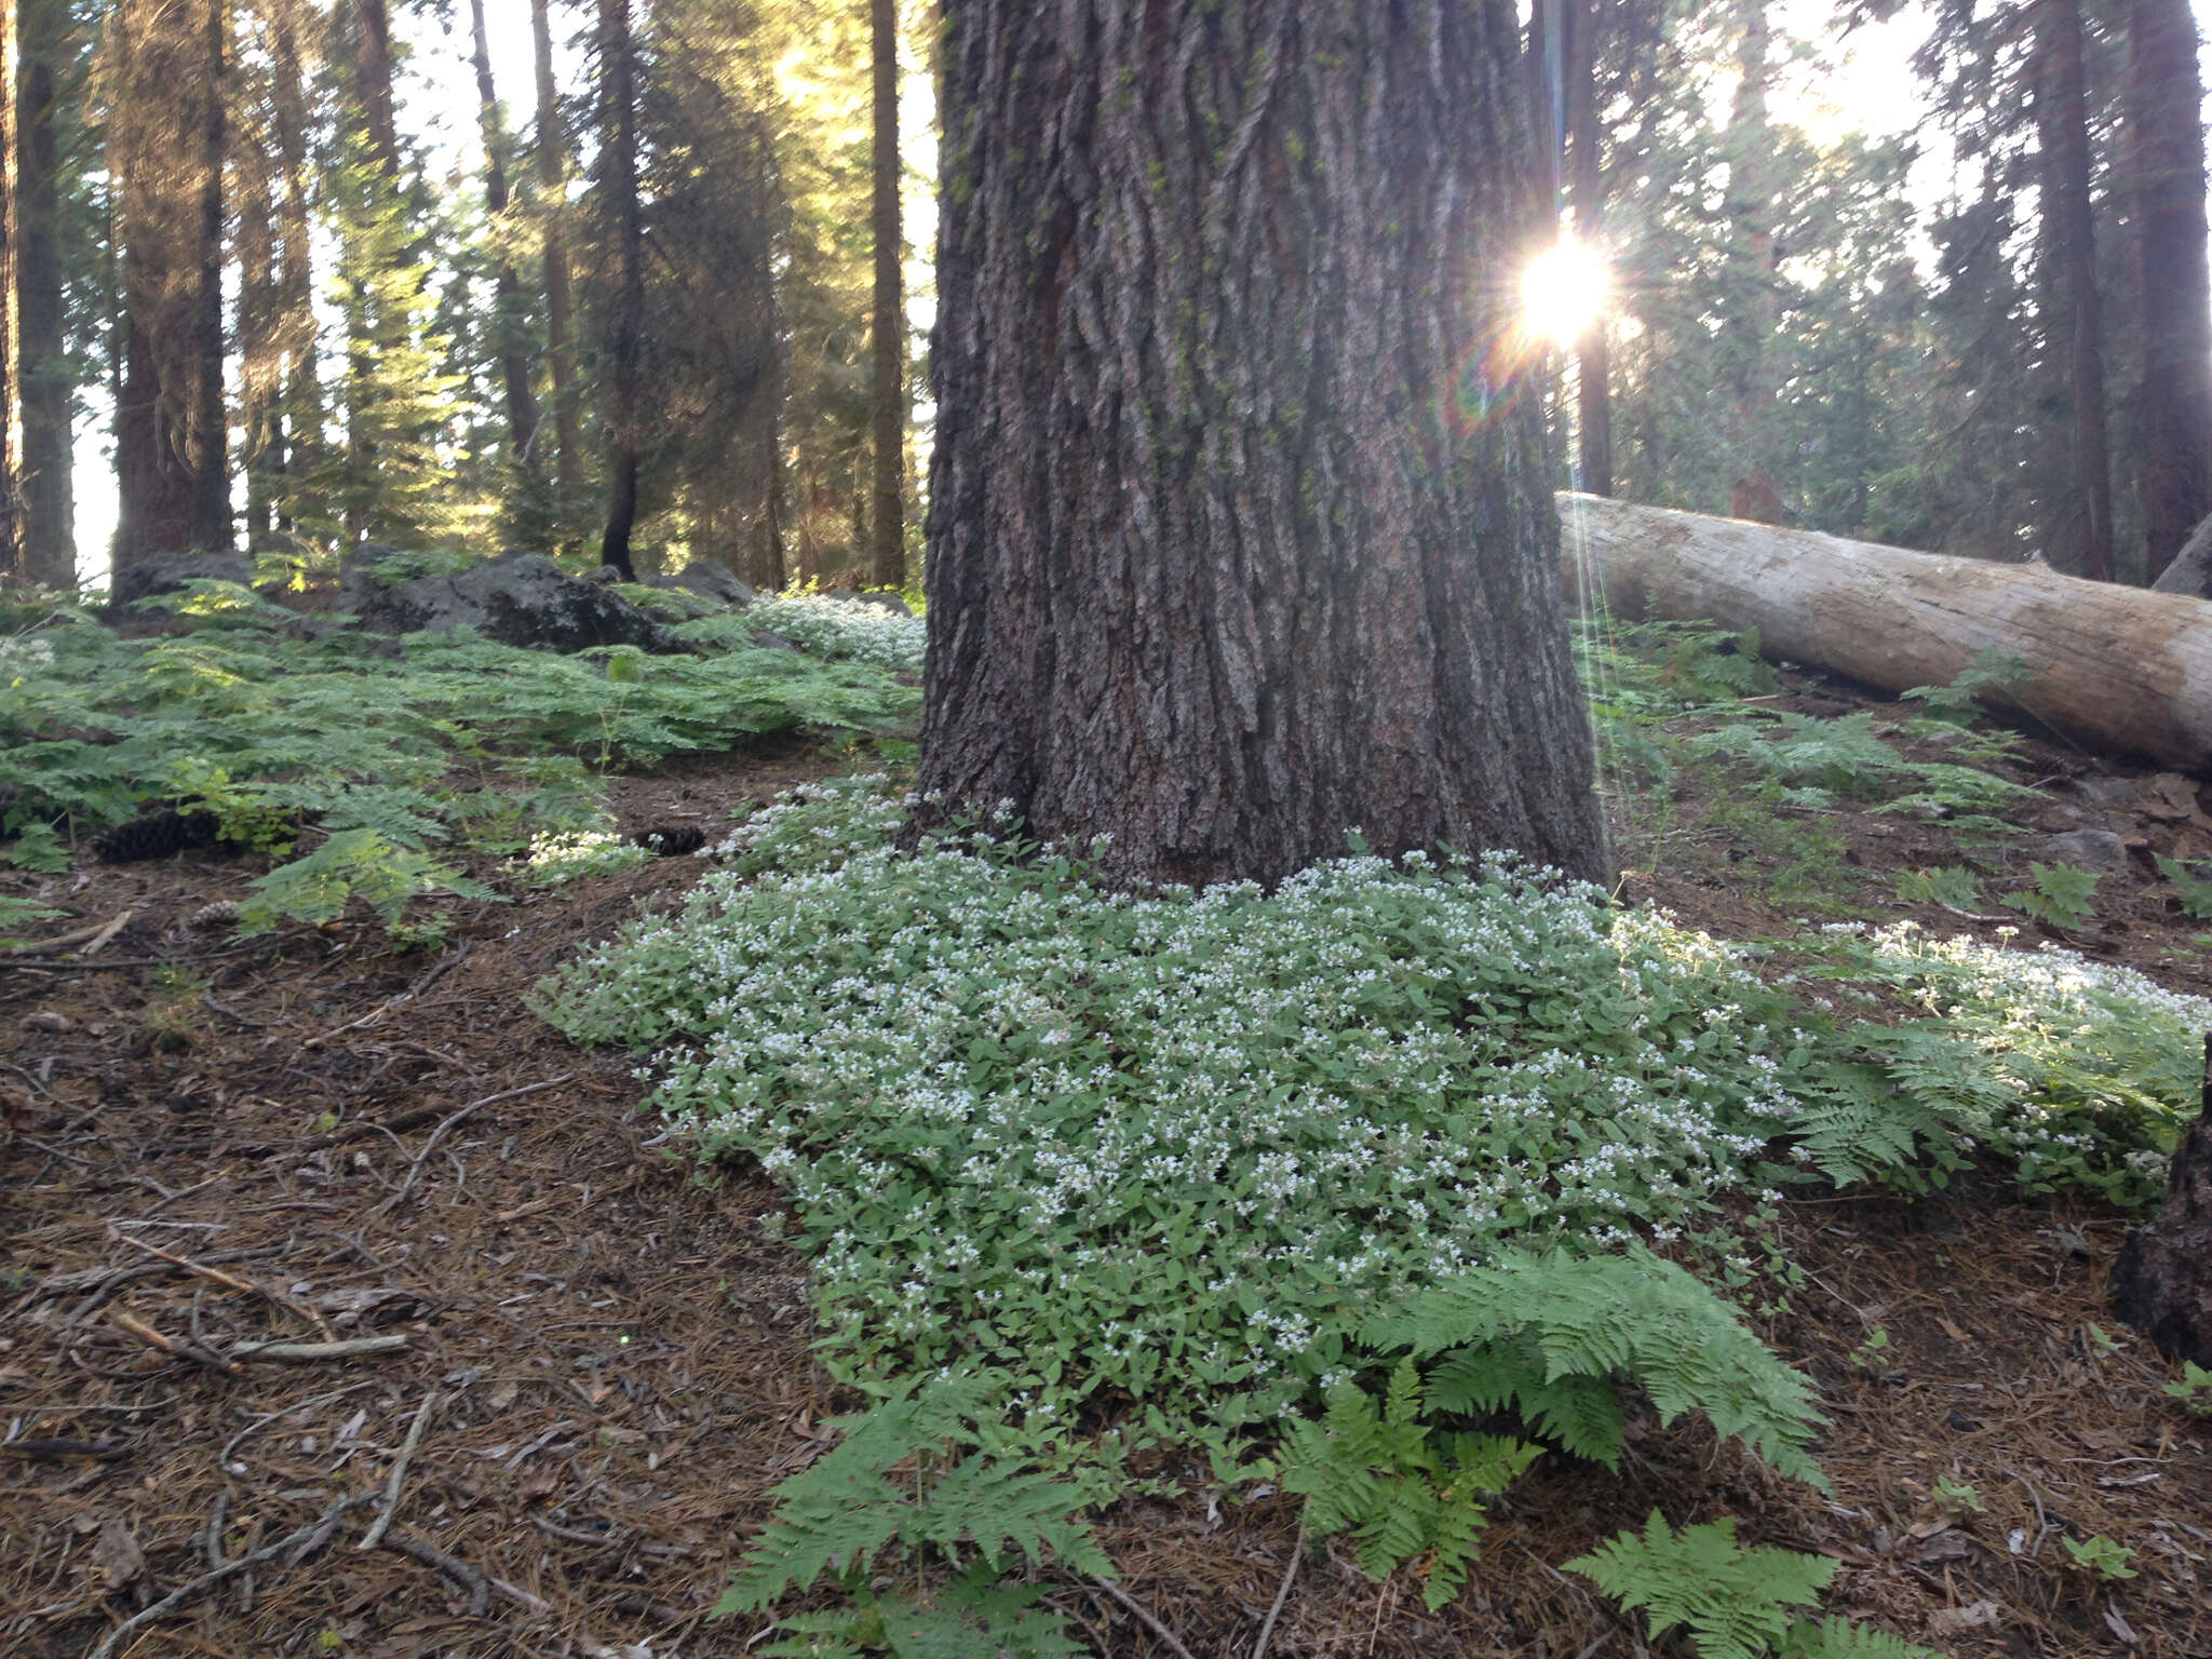
[[[801,726],[902,754],[883,726],[914,708],[916,619],[630,597],[697,655],[376,641],[221,584],[150,639],[18,613],[0,852],[35,872],[148,807],[210,814],[265,863],[243,927],[354,909],[429,942],[438,891],[650,856],[611,770]],[[2011,929],[1820,920],[1867,909],[1823,841],[1851,803],[1942,847],[1924,902],[2022,883],[2046,900],[2022,922],[2079,927],[2095,896],[2026,860],[2017,741],[1966,701],[2004,672],[1885,726],[1774,708],[1754,641],[1586,628],[1635,854],[1694,856],[1745,801],[1767,825],[1745,880],[1805,918],[1756,942],[1356,834],[1272,891],[1130,896],[1011,807],[900,845],[891,770],[737,823],[672,911],[535,995],[639,1055],[703,1170],[783,1186],[763,1228],[792,1230],[821,1358],[869,1402],[779,1489],[723,1610],[776,1610],[763,1655],[1084,1652],[1044,1597],[1113,1573],[1086,1517],[1190,1491],[1296,1495],[1310,1544],[1438,1608],[1531,1467],[1613,1467],[1646,1411],[1825,1489],[1812,1383],[1759,1336],[1801,1283],[1785,1197],[1978,1166],[2141,1208],[2194,1110],[2212,1004]],[[2188,907],[2203,876],[2166,880]],[[1922,1652],[1823,1617],[1834,1562],[1725,1520],[1650,1515],[1555,1566],[1708,1659]]]

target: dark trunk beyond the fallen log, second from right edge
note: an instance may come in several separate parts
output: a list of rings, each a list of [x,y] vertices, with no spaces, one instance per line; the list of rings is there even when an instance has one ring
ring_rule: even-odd
[[[2112,580],[2112,462],[2104,429],[2104,316],[2090,204],[2088,69],[2079,0],[2035,0],[2035,131],[2042,166],[2044,396],[2053,467],[2044,555]]]

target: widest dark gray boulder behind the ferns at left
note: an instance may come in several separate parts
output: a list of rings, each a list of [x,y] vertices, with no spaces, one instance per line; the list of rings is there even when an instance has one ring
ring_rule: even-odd
[[[361,626],[374,633],[451,633],[524,650],[637,646],[661,655],[690,650],[628,599],[564,573],[544,553],[500,553],[453,575],[420,575],[394,586],[365,584]]]

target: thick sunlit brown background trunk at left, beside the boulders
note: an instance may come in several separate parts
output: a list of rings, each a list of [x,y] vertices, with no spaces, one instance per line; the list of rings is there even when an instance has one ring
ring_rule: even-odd
[[[204,11],[122,0],[111,24],[119,93],[108,164],[119,190],[124,301],[117,571],[161,553],[230,546],[221,24],[215,0]]]

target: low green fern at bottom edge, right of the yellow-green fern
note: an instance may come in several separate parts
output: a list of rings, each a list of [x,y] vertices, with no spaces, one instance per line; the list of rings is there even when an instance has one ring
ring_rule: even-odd
[[[1739,1544],[1734,1520],[1677,1531],[1655,1509],[1641,1533],[1621,1533],[1566,1571],[1641,1610],[1655,1641],[1683,1626],[1699,1659],[1938,1659],[1847,1619],[1805,1617],[1801,1608],[1820,1604],[1836,1562]]]

